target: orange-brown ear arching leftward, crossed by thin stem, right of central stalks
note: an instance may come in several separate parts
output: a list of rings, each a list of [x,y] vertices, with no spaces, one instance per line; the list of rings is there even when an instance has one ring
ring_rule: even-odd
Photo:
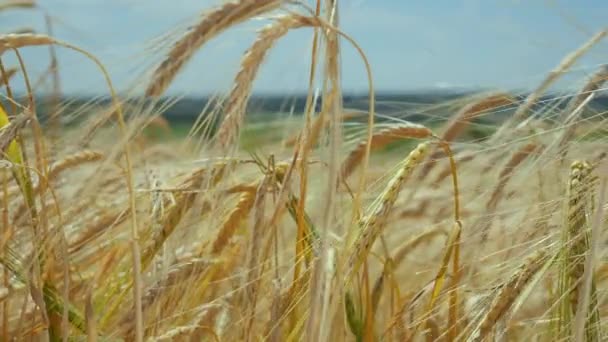
[[[384,129],[372,136],[371,146],[372,150],[380,149],[392,142],[413,138],[413,139],[426,139],[430,138],[433,132],[418,124],[407,124],[396,127]],[[367,148],[367,141],[362,141],[357,147],[352,150],[346,160],[342,163],[342,177],[347,178],[355,168],[361,163],[365,155],[365,149]]]

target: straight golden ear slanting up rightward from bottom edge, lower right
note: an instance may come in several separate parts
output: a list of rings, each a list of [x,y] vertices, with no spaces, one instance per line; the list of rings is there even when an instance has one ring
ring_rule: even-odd
[[[522,264],[520,270],[511,279],[501,286],[488,312],[486,312],[479,323],[479,335],[475,341],[483,341],[490,334],[496,323],[504,317],[515,300],[524,291],[528,282],[544,265],[543,259],[545,255],[544,251],[537,252]]]

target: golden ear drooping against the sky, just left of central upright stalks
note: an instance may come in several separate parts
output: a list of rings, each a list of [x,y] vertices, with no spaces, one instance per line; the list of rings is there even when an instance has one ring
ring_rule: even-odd
[[[290,30],[318,25],[319,21],[315,18],[292,14],[277,19],[260,31],[256,41],[247,50],[241,61],[241,67],[233,82],[234,86],[226,100],[224,119],[217,133],[220,146],[225,148],[233,142],[235,137],[238,137],[253,80],[268,51]]]

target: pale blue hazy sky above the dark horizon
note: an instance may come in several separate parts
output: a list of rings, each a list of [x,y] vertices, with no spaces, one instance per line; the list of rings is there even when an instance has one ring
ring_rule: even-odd
[[[308,0],[311,1],[312,0]],[[0,29],[44,32],[46,11],[54,35],[98,56],[122,91],[142,89],[146,72],[167,42],[221,0],[39,0],[41,10],[0,13]],[[340,26],[363,48],[377,91],[533,88],[570,52],[608,27],[606,0],[342,0]],[[204,46],[169,89],[172,95],[225,92],[239,60],[265,19],[231,29]],[[254,91],[306,89],[312,32],[282,39],[265,61]],[[345,91],[363,92],[367,77],[355,49],[343,42]],[[48,65],[47,48],[23,49],[32,78]],[[106,92],[93,64],[58,49],[61,86],[67,94]],[[7,53],[6,64],[15,60]],[[600,42],[557,88],[575,88],[608,62]],[[22,83],[16,81],[16,83]],[[15,85],[19,88],[19,85]]]

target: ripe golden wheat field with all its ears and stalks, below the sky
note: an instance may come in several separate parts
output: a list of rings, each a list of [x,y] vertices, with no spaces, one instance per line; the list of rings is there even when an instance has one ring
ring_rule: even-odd
[[[376,113],[374,66],[336,1],[201,11],[162,42],[137,96],[70,42],[0,35],[0,54],[18,61],[0,59],[0,340],[608,338],[608,117],[590,106],[608,69],[547,98],[608,31],[532,92],[462,96],[420,108],[446,117],[410,122]],[[230,91],[188,134],[150,137],[172,129],[156,104],[193,56],[260,17]],[[296,29],[312,36],[305,109],[252,123],[253,82]],[[344,106],[343,45],[368,76],[365,111]],[[110,101],[74,109],[54,94],[41,119],[26,47],[50,51],[51,78],[54,49],[80,54]]]

